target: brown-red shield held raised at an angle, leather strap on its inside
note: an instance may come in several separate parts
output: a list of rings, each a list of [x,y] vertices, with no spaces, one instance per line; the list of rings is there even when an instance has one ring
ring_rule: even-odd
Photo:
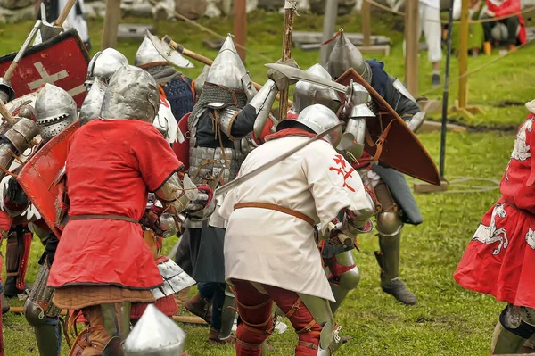
[[[410,177],[440,186],[440,175],[436,164],[418,137],[407,127],[405,121],[391,108],[391,105],[352,68],[343,73],[336,81],[349,86],[351,79],[366,87],[379,106],[378,117],[366,121],[366,129],[369,132],[369,138],[371,138],[371,140],[366,139],[366,152],[374,156],[377,151],[375,143],[383,135],[383,150],[378,161]],[[343,96],[342,93],[341,96]],[[343,99],[345,98],[342,97]],[[383,134],[384,132],[386,134]]]

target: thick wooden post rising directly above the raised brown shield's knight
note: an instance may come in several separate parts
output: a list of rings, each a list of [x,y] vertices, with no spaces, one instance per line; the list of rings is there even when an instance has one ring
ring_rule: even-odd
[[[366,2],[366,1],[365,1]],[[408,91],[418,95],[418,0],[407,0],[405,11],[405,83]]]

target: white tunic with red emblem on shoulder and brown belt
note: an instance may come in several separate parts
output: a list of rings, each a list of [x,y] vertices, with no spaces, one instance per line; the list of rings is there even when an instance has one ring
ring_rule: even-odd
[[[277,138],[249,153],[240,175],[259,168],[308,137]],[[350,163],[325,141],[316,141],[257,177],[235,187],[219,214],[227,220],[226,280],[249,280],[334,301],[314,241],[302,219],[261,208],[234,210],[236,203],[272,203],[299,211],[323,227],[345,207],[372,209]]]

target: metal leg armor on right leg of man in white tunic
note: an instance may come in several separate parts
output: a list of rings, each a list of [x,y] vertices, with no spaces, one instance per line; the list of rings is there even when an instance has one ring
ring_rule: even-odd
[[[305,304],[312,318],[322,328],[317,346],[317,356],[330,356],[342,345],[338,335],[339,327],[334,325],[333,311],[326,299],[308,294],[299,294],[301,302]]]

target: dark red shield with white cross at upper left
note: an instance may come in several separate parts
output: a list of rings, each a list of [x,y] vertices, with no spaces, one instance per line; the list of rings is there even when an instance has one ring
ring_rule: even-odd
[[[4,76],[16,54],[0,57],[0,76]],[[86,97],[84,82],[88,62],[89,54],[78,32],[70,29],[42,44],[29,47],[12,75],[12,87],[17,96],[22,96],[50,83],[69,92],[79,108]]]

